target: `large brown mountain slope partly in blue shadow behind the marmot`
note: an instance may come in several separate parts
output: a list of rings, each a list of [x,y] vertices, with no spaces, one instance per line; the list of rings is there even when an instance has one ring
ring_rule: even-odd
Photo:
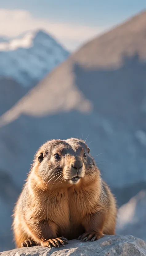
[[[142,12],[83,45],[1,116],[0,169],[18,189],[39,146],[70,137],[87,138],[118,205],[145,188],[145,45]]]

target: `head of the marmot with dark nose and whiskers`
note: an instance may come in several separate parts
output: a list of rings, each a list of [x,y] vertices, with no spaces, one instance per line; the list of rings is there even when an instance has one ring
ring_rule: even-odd
[[[48,186],[87,184],[99,175],[89,147],[77,138],[43,144],[35,156],[33,168]]]

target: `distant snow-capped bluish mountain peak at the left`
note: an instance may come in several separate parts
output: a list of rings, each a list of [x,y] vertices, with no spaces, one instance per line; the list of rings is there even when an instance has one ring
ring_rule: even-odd
[[[40,81],[68,56],[69,52],[43,30],[11,39],[0,37],[0,75],[24,86]]]

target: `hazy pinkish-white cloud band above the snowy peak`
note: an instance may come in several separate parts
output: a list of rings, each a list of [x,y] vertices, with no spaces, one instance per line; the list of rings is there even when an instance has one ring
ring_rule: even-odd
[[[25,31],[42,28],[51,33],[69,50],[101,33],[105,27],[88,27],[79,24],[57,23],[38,19],[27,10],[0,9],[0,35],[17,36]]]

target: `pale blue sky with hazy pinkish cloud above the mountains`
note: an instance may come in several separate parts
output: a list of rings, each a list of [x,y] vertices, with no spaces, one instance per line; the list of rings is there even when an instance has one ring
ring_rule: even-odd
[[[69,50],[146,9],[146,0],[1,0],[0,35],[44,28]]]

